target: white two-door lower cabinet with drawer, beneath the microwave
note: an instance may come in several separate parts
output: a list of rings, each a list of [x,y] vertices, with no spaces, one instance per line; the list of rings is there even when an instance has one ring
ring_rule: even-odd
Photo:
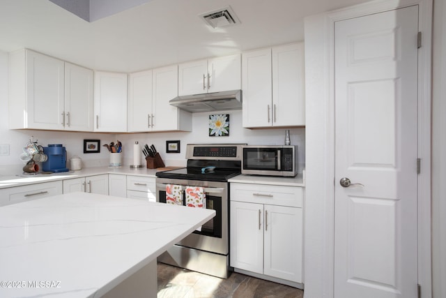
[[[231,267],[303,283],[302,188],[231,183],[230,198]]]

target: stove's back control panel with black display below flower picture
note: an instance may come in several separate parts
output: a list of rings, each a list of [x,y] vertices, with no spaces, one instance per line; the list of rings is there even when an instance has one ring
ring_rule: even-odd
[[[187,144],[187,159],[241,160],[243,144]]]

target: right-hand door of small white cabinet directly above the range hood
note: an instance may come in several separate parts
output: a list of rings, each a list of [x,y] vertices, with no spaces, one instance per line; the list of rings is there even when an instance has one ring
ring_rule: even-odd
[[[208,75],[208,92],[241,89],[242,62],[240,54],[210,59]]]

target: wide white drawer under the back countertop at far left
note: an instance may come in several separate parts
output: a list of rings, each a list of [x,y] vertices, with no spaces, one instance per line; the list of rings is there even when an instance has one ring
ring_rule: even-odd
[[[46,198],[61,193],[62,181],[3,188],[0,189],[0,206]]]

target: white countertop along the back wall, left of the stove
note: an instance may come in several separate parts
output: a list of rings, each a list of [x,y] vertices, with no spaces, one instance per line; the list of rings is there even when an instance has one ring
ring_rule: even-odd
[[[171,167],[178,168],[178,167]],[[129,166],[123,167],[87,167],[79,171],[61,172],[54,174],[13,174],[13,175],[0,175],[0,189],[13,186],[24,186],[29,184],[38,184],[42,182],[58,181],[63,179],[72,179],[79,177],[86,177],[98,174],[125,174],[134,176],[144,176],[155,178],[155,173],[161,170],[169,170],[169,167],[160,167],[158,169],[147,169],[146,167],[140,167],[138,169],[132,169]]]

